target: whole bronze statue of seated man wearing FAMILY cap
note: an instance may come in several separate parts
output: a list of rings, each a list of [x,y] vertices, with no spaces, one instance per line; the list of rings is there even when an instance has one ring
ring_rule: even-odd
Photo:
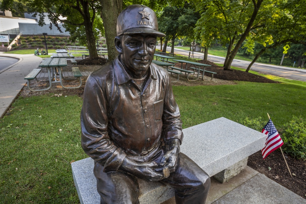
[[[128,6],[117,19],[119,55],[86,81],[81,143],[95,160],[101,203],[139,203],[136,177],[173,187],[176,203],[205,203],[210,178],[180,153],[182,121],[171,81],[151,63],[163,36],[152,9]]]

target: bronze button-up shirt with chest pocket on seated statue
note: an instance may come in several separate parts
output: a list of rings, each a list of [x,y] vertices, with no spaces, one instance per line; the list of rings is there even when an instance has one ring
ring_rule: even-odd
[[[166,70],[152,63],[140,90],[119,57],[88,77],[81,110],[82,148],[105,172],[118,170],[126,155],[158,148],[160,139],[183,139]]]

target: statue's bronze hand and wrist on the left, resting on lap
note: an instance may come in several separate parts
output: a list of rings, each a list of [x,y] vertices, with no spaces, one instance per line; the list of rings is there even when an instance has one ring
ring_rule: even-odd
[[[129,158],[125,158],[122,162],[121,169],[137,176],[140,179],[147,181],[159,181],[162,180],[164,176],[153,170],[158,166],[159,165],[155,161],[136,162]]]

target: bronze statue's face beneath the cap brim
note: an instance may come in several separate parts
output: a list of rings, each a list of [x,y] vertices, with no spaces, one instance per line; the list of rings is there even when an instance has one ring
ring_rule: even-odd
[[[154,58],[156,36],[148,34],[122,35],[121,60],[132,74],[149,69]]]

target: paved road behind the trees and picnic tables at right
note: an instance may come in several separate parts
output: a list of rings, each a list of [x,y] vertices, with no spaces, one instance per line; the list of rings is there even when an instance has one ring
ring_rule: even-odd
[[[177,48],[174,48],[175,54],[189,54],[188,50],[180,50]],[[167,47],[167,51],[170,51],[170,47]],[[203,57],[203,53],[195,52],[194,56],[200,56]],[[208,55],[210,57],[210,61],[223,64],[225,57],[218,57],[214,55]],[[236,60],[234,59],[232,62],[232,66],[240,67],[246,69],[248,65],[250,64],[249,61],[244,60]],[[271,74],[275,76],[281,76],[288,79],[294,79],[294,80],[300,80],[300,81],[306,81],[306,69],[296,69],[296,68],[290,68],[290,67],[283,67],[283,66],[277,66],[277,65],[267,65],[262,63],[254,63],[252,65],[251,70],[265,73],[265,74]]]

